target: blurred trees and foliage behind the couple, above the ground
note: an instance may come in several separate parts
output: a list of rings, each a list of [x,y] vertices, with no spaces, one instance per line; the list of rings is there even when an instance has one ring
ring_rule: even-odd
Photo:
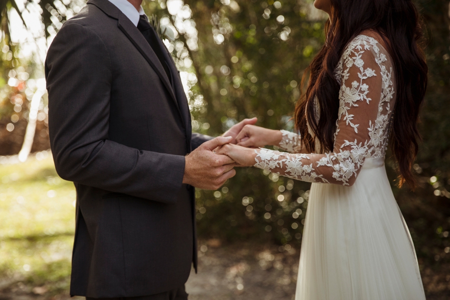
[[[58,20],[45,23],[45,32],[56,31],[66,17],[64,9],[57,7],[59,3],[42,3]],[[64,1],[67,7],[71,3]],[[425,22],[429,67],[420,123],[423,141],[414,165],[422,185],[414,192],[398,189],[394,184],[392,187],[421,265],[438,266],[450,262],[449,1],[416,3]],[[195,131],[219,135],[237,121],[253,116],[264,127],[293,129],[290,118],[300,95],[301,76],[324,42],[326,15],[312,8],[312,0],[146,0],[143,7],[147,14],[158,15],[161,22],[164,20],[180,33],[167,46],[190,89],[188,100]],[[19,144],[22,138],[22,131],[6,130],[16,114],[16,95],[22,95],[20,106],[24,111],[25,99],[29,100],[26,86],[14,90],[18,85],[5,84],[10,78],[18,79],[20,65],[28,72],[26,63],[14,58],[18,56],[5,45],[2,44],[5,51],[1,55],[11,64],[3,63],[0,70],[4,81],[0,80],[3,155],[16,153],[17,149],[4,151],[5,143],[15,138]],[[10,70],[15,70],[15,74]],[[33,75],[31,71],[28,74]],[[26,122],[26,115],[23,120]],[[41,122],[36,136],[42,134],[41,138],[46,138],[45,119]],[[42,142],[34,149],[47,147]],[[389,159],[386,166],[394,182],[395,165]],[[217,191],[196,190],[199,234],[228,241],[257,238],[280,244],[299,243],[308,188],[309,183],[260,169],[240,169]]]

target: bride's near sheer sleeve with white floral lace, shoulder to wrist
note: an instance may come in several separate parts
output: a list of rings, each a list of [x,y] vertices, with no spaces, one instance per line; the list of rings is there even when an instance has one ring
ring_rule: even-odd
[[[254,166],[302,181],[354,183],[367,155],[370,136],[374,136],[370,131],[382,98],[383,59],[375,57],[370,47],[363,40],[350,43],[341,59],[343,67],[336,72],[341,86],[333,151],[291,154],[261,148],[255,150]],[[282,148],[293,149],[287,144],[292,143]]]

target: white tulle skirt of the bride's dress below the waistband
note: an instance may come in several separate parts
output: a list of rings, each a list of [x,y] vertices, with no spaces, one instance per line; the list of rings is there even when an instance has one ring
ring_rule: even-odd
[[[352,186],[312,183],[295,300],[425,299],[409,230],[382,158]]]

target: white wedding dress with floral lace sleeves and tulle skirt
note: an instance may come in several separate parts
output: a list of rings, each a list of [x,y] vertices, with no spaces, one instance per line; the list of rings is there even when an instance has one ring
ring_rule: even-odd
[[[414,246],[393,197],[384,154],[395,102],[392,60],[358,35],[335,70],[341,83],[334,149],[256,150],[256,167],[313,182],[303,229],[296,300],[425,299]],[[336,99],[337,100],[337,99]]]

